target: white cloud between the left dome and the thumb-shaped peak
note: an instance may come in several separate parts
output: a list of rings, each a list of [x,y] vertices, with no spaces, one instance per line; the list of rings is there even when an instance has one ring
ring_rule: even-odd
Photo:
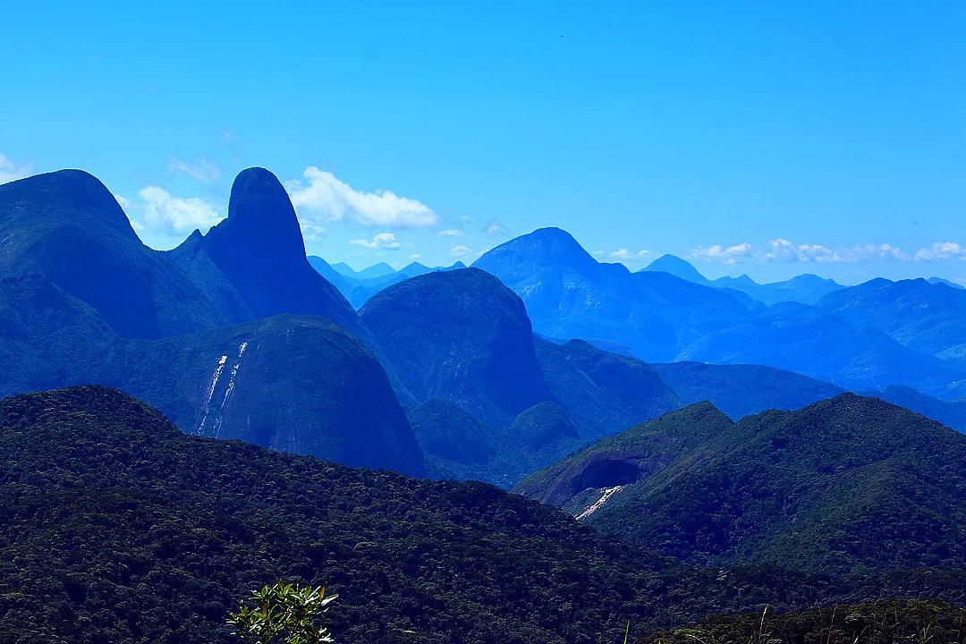
[[[175,197],[156,185],[147,186],[138,195],[141,197],[139,201],[114,195],[137,231],[172,237],[192,233],[195,229],[206,233],[223,218],[220,210],[197,197]]]

